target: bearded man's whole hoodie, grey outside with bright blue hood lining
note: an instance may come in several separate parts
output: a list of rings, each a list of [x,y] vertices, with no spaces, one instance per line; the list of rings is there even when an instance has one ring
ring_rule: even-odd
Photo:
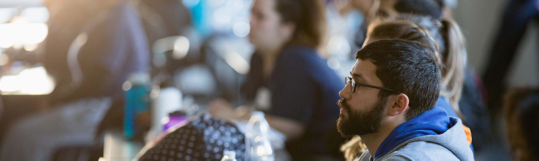
[[[376,150],[359,160],[473,160],[462,121],[434,107],[393,130]]]

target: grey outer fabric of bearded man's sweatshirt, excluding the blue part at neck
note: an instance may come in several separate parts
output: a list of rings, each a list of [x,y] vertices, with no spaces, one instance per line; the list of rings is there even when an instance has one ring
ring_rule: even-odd
[[[450,117],[450,119],[451,121],[456,121],[456,123],[443,134],[411,138],[374,161],[473,160],[472,150],[467,143],[466,134],[462,128],[462,121],[454,117]],[[356,160],[369,161],[371,159],[371,154],[367,150]]]

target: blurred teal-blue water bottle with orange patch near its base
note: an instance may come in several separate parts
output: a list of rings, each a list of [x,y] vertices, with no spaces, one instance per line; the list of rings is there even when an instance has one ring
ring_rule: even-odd
[[[125,91],[123,130],[128,140],[142,137],[142,130],[149,127],[151,119],[149,83],[150,75],[140,72],[129,75],[122,85]]]

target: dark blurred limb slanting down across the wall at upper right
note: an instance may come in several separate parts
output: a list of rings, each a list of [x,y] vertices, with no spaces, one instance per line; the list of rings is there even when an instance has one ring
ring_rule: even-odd
[[[506,90],[511,64],[522,42],[528,24],[539,18],[539,1],[510,0],[501,17],[501,24],[493,38],[483,82],[488,94],[488,108],[493,119],[502,112],[502,96]],[[494,120],[493,120],[494,121]]]

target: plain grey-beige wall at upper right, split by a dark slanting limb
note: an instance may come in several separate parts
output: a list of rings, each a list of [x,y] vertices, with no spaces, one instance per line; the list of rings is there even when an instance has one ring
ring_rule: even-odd
[[[481,76],[507,0],[460,0],[454,10],[468,41],[468,64]],[[537,25],[531,24],[506,79],[510,86],[539,86]]]

